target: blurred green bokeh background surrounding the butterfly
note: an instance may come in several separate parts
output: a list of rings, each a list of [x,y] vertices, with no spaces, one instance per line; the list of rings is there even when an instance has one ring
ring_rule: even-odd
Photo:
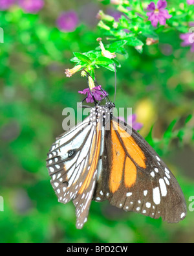
[[[76,110],[83,99],[78,91],[87,87],[79,73],[66,78],[64,71],[73,67],[72,52],[98,46],[100,9],[111,12],[113,6],[46,0],[40,10],[16,3],[0,11],[0,242],[194,242],[194,211],[189,210],[184,221],[167,224],[92,202],[87,224],[77,230],[74,205],[59,204],[50,185],[45,159],[63,133],[62,110]],[[57,20],[69,10],[78,21],[64,31]],[[160,43],[145,45],[142,54],[132,47],[129,58],[118,54],[116,106],[133,108],[144,124],[140,134],[175,174],[189,206],[194,196],[194,55],[180,46],[179,36],[161,32]],[[114,73],[100,69],[96,78],[113,100]]]

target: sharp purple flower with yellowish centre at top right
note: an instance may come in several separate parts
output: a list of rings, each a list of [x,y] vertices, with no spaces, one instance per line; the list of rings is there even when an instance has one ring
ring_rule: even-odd
[[[153,27],[156,27],[158,25],[158,22],[160,23],[160,25],[166,25],[166,19],[172,17],[166,10],[166,6],[166,0],[159,0],[157,6],[154,2],[151,2],[147,6],[147,10],[149,11],[147,12],[148,20],[151,21]]]

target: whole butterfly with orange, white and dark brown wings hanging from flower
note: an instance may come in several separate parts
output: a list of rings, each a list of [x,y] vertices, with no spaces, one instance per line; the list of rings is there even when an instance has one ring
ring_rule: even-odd
[[[58,201],[72,200],[78,229],[92,200],[171,223],[183,220],[186,202],[175,176],[136,130],[113,116],[114,107],[96,104],[52,145],[47,168]]]

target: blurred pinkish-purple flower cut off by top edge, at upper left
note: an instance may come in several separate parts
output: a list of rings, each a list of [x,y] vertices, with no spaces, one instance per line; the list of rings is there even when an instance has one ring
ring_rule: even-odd
[[[44,0],[19,0],[18,3],[29,14],[36,14],[45,5]]]

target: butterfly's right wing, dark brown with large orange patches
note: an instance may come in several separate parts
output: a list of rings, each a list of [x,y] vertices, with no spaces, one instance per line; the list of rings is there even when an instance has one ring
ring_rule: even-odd
[[[125,130],[124,122],[113,118],[111,131],[105,134],[103,172],[94,200],[107,199],[125,211],[162,216],[167,222],[183,220],[186,202],[177,180],[138,132],[127,136]]]

